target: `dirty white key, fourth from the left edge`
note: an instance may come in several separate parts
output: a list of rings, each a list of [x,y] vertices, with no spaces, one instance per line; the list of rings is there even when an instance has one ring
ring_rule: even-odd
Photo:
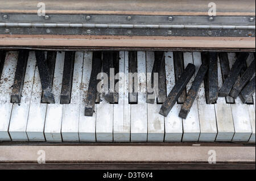
[[[61,122],[63,115],[63,104],[60,104],[60,94],[63,77],[64,57],[64,52],[57,52],[52,85],[52,93],[55,98],[55,104],[47,105],[46,123],[44,128],[44,135],[46,136],[46,141],[62,141]]]

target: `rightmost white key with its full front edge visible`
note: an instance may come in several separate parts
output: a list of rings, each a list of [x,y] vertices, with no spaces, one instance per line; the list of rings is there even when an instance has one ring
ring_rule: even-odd
[[[228,53],[229,68],[232,68],[236,61],[235,53]],[[230,104],[232,109],[235,134],[232,141],[249,141],[251,137],[251,123],[247,104],[243,104],[238,96],[235,104]]]

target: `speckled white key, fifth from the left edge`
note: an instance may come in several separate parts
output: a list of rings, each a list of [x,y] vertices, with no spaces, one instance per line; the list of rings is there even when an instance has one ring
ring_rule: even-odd
[[[82,83],[82,64],[84,52],[75,55],[71,103],[63,104],[61,134],[63,141],[79,141],[80,85]]]

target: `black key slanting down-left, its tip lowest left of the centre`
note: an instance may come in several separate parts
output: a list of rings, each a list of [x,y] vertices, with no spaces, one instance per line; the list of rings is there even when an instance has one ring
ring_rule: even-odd
[[[92,71],[90,73],[89,87],[85,99],[85,116],[93,116],[97,84],[100,80],[97,80],[98,73],[101,73],[101,52],[93,52]]]

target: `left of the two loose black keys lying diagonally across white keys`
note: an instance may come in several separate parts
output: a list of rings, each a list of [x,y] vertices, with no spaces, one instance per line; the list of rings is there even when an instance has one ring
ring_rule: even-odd
[[[167,116],[171,111],[172,107],[174,107],[177,99],[179,98],[182,91],[187,86],[189,80],[195,73],[195,65],[188,64],[187,68],[185,68],[183,74],[181,74],[179,80],[176,82],[174,88],[171,90],[170,94],[167,96],[166,101],[162,104],[160,108],[160,115]]]

